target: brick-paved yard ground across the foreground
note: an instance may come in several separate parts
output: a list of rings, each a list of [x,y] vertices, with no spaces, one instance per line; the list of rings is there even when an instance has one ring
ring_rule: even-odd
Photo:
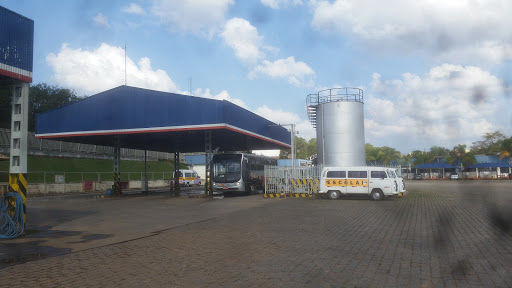
[[[381,202],[63,197],[46,206],[78,216],[48,220],[62,234],[29,241],[68,250],[4,266],[0,286],[512,286],[512,181],[407,185]],[[84,235],[107,236],[77,243]]]

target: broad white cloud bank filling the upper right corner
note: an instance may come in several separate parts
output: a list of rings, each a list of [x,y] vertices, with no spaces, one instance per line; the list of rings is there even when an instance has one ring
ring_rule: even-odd
[[[512,2],[312,1],[312,26],[378,47],[425,53],[439,63],[493,64],[512,57]],[[370,49],[372,49],[370,48]],[[449,60],[451,59],[451,60]]]

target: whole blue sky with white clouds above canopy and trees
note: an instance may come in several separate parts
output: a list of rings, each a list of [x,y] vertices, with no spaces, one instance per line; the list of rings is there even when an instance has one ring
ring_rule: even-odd
[[[512,136],[509,0],[0,0],[35,21],[34,83],[227,99],[316,137],[308,94],[364,90],[402,153]],[[191,90],[191,91],[190,91]]]

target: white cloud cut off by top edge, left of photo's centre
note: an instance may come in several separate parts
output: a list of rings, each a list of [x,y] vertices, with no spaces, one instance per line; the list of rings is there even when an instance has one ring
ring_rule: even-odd
[[[212,37],[233,4],[234,0],[156,0],[151,11],[172,32]]]

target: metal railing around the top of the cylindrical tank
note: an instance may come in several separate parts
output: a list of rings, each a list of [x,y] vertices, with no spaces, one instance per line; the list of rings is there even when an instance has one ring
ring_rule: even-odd
[[[359,88],[330,88],[319,91],[317,94],[309,94],[307,97],[308,106],[316,106],[322,103],[349,101],[363,102],[363,89]]]

